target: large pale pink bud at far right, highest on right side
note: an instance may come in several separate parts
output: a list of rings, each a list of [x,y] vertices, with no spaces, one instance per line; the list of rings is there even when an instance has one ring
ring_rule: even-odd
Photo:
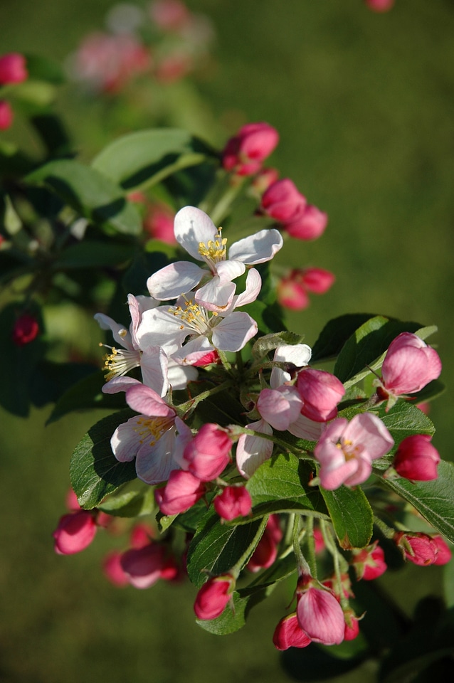
[[[397,396],[421,391],[426,384],[438,378],[440,372],[440,356],[435,349],[416,334],[401,332],[389,344],[381,366],[382,379],[377,394],[383,400],[391,397],[392,405]]]

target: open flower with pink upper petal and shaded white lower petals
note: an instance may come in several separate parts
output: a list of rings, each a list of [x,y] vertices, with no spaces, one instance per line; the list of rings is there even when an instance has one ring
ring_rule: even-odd
[[[137,477],[147,484],[164,482],[172,470],[179,469],[191,430],[156,391],[144,384],[132,383],[126,390],[126,401],[141,414],[117,427],[110,440],[112,451],[120,462],[135,457]]]

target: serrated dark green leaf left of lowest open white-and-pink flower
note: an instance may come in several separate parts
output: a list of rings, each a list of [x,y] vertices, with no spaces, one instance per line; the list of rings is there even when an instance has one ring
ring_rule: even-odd
[[[75,447],[70,462],[70,480],[84,509],[96,507],[108,494],[136,478],[134,460],[119,462],[110,448],[115,429],[132,415],[132,411],[125,410],[100,420]]]

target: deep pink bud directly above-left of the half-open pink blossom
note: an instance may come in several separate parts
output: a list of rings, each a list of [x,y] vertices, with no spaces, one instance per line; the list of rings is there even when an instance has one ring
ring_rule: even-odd
[[[297,390],[304,405],[302,415],[314,422],[327,422],[337,415],[337,403],[344,396],[342,382],[324,370],[304,368],[297,378]]]

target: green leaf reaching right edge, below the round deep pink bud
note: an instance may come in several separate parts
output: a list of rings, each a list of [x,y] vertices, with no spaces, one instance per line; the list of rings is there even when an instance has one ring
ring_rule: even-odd
[[[438,478],[431,482],[410,482],[407,479],[387,480],[381,484],[408,501],[451,543],[454,543],[454,465],[440,460]]]

